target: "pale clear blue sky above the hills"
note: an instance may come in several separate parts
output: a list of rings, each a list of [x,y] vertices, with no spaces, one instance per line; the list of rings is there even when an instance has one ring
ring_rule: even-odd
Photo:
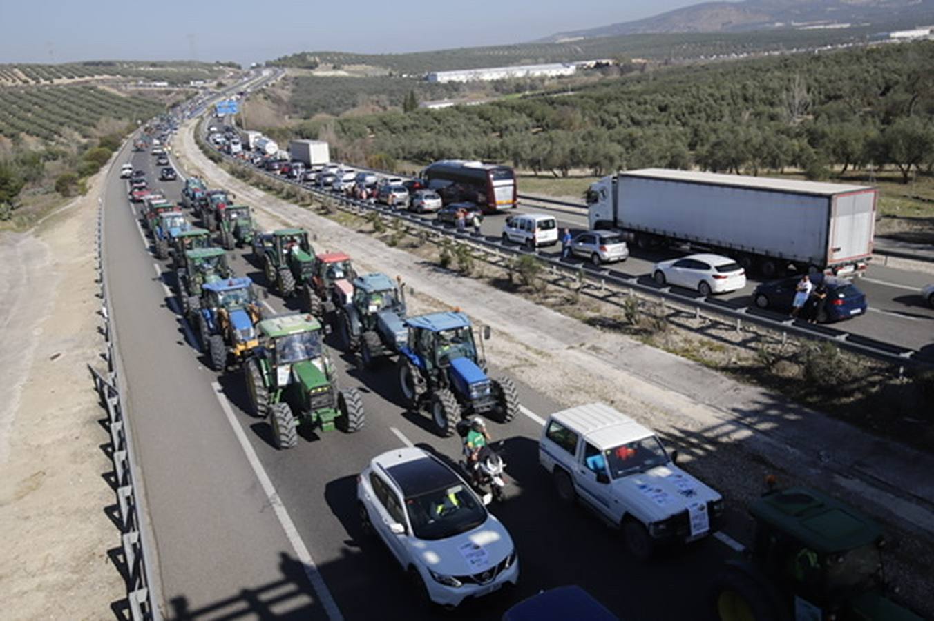
[[[424,51],[522,43],[701,0],[0,0],[0,63],[262,62],[297,51]]]

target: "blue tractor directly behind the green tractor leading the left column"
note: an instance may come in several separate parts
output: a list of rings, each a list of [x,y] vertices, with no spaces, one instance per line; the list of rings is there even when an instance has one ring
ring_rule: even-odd
[[[198,337],[211,368],[222,371],[231,358],[243,362],[259,344],[256,324],[262,318],[253,281],[244,278],[205,283],[201,287]]]

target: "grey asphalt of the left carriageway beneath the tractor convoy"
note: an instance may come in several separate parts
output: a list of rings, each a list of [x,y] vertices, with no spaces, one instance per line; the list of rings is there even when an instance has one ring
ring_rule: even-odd
[[[182,182],[156,181],[152,156],[137,153],[132,161],[152,186],[178,200]],[[359,371],[332,349],[341,385],[363,393],[365,428],[355,435],[304,433],[297,448],[275,449],[266,421],[247,412],[240,374],[208,370],[177,312],[174,276],[151,255],[118,170],[106,186],[106,265],[166,616],[437,616],[440,611],[417,601],[378,540],[361,536],[356,476],[373,456],[403,443],[456,460],[459,440],[433,435],[424,415],[405,411],[392,366]],[[265,285],[247,251],[231,255],[238,275]],[[295,308],[275,296],[265,303],[275,311]],[[538,417],[558,408],[518,388],[522,404]],[[584,586],[625,619],[702,617],[706,588],[733,554],[728,545],[708,538],[648,563],[631,559],[617,531],[580,507],[559,505],[538,466],[540,424],[523,415],[490,428],[494,439],[504,440],[510,479],[508,499],[491,511],[517,543],[519,586],[449,617],[497,619],[517,600],[568,584]],[[743,517],[728,514],[725,532],[742,539],[743,524]]]

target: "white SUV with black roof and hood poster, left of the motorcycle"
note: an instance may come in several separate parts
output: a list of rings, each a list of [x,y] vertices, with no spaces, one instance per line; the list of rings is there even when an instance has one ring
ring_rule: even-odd
[[[444,462],[422,449],[373,458],[357,477],[361,528],[376,533],[421,593],[457,606],[519,577],[509,531]]]

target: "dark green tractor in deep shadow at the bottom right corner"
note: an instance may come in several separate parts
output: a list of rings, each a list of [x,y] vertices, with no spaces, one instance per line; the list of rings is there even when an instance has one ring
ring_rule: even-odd
[[[870,517],[804,488],[769,490],[750,513],[755,543],[715,580],[715,619],[921,621],[886,595],[883,533]]]

